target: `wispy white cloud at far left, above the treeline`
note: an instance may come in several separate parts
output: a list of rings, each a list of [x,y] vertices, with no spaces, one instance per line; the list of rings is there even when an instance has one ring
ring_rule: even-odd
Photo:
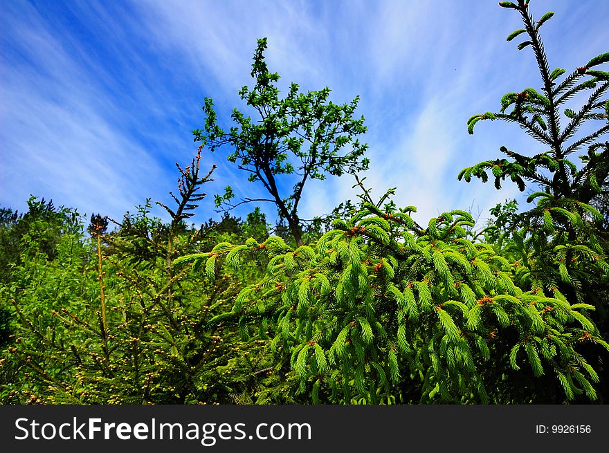
[[[166,179],[163,169],[118,126],[128,112],[100,86],[109,68],[93,64],[98,79],[92,78],[37,10],[28,3],[15,8],[24,23],[9,24],[5,33],[22,60],[2,73],[0,153],[7,171],[0,201],[21,207],[33,194],[120,218],[143,201],[142,189],[151,189],[142,181]]]

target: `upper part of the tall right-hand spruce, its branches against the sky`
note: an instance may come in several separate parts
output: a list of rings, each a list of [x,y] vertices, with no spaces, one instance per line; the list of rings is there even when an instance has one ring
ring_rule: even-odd
[[[590,200],[601,192],[600,187],[609,177],[609,167],[603,157],[607,151],[606,144],[594,143],[594,140],[609,131],[609,124],[601,125],[584,137],[575,140],[573,138],[586,122],[598,120],[608,122],[606,112],[596,112],[605,110],[607,101],[602,100],[602,97],[608,91],[609,83],[603,71],[590,71],[589,68],[608,62],[609,54],[594,57],[588,65],[576,68],[563,82],[556,84],[555,81],[566,71],[563,68],[549,71],[547,57],[538,35],[540,26],[552,17],[553,13],[548,12],[534,23],[528,12],[528,4],[524,1],[518,1],[518,5],[502,2],[502,6],[516,9],[522,16],[525,28],[511,33],[508,41],[522,33],[529,35],[529,40],[520,44],[518,49],[525,46],[531,46],[533,49],[543,81],[543,94],[531,88],[523,89],[519,93],[507,93],[501,100],[499,113],[473,115],[467,122],[468,131],[473,133],[475,124],[481,120],[517,122],[530,136],[551,149],[534,156],[527,156],[501,147],[500,151],[507,155],[507,159],[487,160],[463,169],[459,179],[464,178],[469,182],[471,177],[475,176],[487,182],[489,178],[487,171],[490,170],[498,189],[501,187],[501,181],[509,177],[522,191],[525,190],[525,183],[531,182],[547,187],[555,198],[570,198],[590,203]],[[585,75],[593,77],[576,85]],[[588,100],[577,113],[572,109],[565,110],[570,122],[561,128],[559,118],[561,106],[577,93],[586,90],[590,91]],[[511,111],[507,112],[509,108]],[[585,145],[590,145],[588,154],[580,156],[581,165],[577,166],[570,160],[570,156]]]

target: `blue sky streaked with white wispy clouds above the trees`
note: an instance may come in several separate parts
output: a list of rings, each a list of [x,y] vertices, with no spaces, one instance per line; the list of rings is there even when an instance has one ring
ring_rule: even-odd
[[[534,16],[548,10],[553,68],[571,71],[609,50],[609,1],[531,1]],[[334,102],[360,95],[371,160],[363,176],[376,194],[397,187],[394,201],[416,205],[425,223],[451,209],[484,218],[518,190],[458,182],[459,170],[501,145],[545,151],[510,124],[466,131],[471,115],[498,111],[504,93],[540,86],[529,48],[505,41],[516,28],[518,13],[488,0],[2,1],[0,205],[23,210],[33,194],[120,219],[147,197],[167,202],[174,162],[197,149],[190,131],[203,124],[203,98],[228,125],[238,89],[251,84],[256,39],[268,37],[280,86],[329,86]],[[228,184],[237,196],[264,195],[226,152],[202,163],[218,169],[194,221],[218,215],[212,194]],[[310,183],[301,217],[355,199],[352,185],[349,176]],[[261,207],[275,218],[272,205]]]

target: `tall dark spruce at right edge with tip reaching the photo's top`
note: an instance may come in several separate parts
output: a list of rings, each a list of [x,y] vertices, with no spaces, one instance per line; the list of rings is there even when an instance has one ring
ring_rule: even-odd
[[[516,272],[515,281],[520,288],[543,288],[559,299],[594,305],[597,310],[593,318],[599,324],[601,336],[607,338],[609,267],[606,256],[609,243],[603,227],[603,219],[606,219],[603,200],[609,185],[609,145],[600,138],[609,132],[609,100],[606,99],[609,78],[605,72],[590,68],[608,62],[609,54],[590,59],[588,64],[566,77],[567,71],[563,68],[550,72],[539,29],[553,13],[548,12],[535,22],[527,2],[519,0],[509,8],[518,10],[525,28],[518,30],[520,33],[512,33],[508,40],[527,33],[529,40],[518,48],[530,46],[533,51],[543,93],[530,88],[520,93],[507,93],[501,99],[499,113],[474,115],[468,122],[468,131],[473,133],[474,125],[480,120],[516,122],[546,151],[518,153],[502,146],[500,151],[506,158],[465,168],[458,178],[469,182],[475,176],[486,183],[490,172],[497,189],[507,178],[521,191],[533,185],[534,192],[527,202],[536,205],[526,212],[514,212],[508,222],[498,216],[497,228],[485,229],[485,238],[508,259],[519,260],[525,265]],[[586,76],[590,78],[583,80]],[[565,104],[580,93],[587,95],[581,109],[565,109]],[[567,119],[562,127],[561,110]],[[585,132],[578,135],[581,129]],[[585,146],[588,151],[579,155],[579,160],[574,158],[574,154]],[[534,359],[532,353],[527,353]],[[602,369],[603,380],[607,382],[609,375],[603,365],[609,361],[606,351],[590,346],[583,356]],[[563,387],[566,382],[579,382],[574,376],[558,376]],[[592,392],[588,385],[581,385],[590,396]],[[573,392],[573,395],[578,393]],[[603,398],[609,398],[607,383],[603,385]]]

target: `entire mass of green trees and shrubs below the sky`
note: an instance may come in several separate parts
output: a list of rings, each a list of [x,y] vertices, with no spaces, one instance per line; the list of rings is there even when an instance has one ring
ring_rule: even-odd
[[[518,50],[532,50],[542,88],[467,126],[516,122],[548,150],[502,146],[458,177],[512,181],[532,207],[507,201],[476,228],[462,210],[419,224],[393,189],[372,198],[357,99],[296,84],[280,98],[261,39],[255,85],[239,93],[260,118],[235,109],[224,131],[206,100],[197,155],[158,203],[169,222],[149,201],[120,221],[44,198],[0,211],[0,403],[606,403],[609,73],[597,66],[609,54],[551,70],[539,30],[552,13],[534,21],[528,3],[500,6],[522,17],[507,40],[527,37]],[[221,220],[196,228],[214,171],[201,153],[227,147],[269,198],[235,203],[227,187]],[[301,219],[307,181],[345,173],[358,203]],[[273,228],[258,208],[228,212],[258,202],[278,208]]]

